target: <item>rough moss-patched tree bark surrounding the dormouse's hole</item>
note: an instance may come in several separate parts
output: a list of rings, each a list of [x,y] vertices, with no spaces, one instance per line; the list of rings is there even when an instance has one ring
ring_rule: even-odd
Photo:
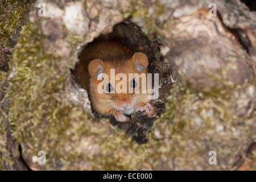
[[[0,2],[1,169],[256,169],[256,13],[239,0]],[[98,117],[70,71],[121,22],[161,86],[156,115],[124,124]]]

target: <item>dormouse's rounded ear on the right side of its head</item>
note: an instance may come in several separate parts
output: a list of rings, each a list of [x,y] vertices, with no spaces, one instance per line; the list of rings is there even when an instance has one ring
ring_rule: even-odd
[[[143,70],[147,69],[147,56],[142,52],[134,53],[133,57],[131,57],[131,61],[133,61],[133,65],[138,72],[142,72]]]

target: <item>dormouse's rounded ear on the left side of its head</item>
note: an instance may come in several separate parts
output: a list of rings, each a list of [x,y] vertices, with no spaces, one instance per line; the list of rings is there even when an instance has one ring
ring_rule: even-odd
[[[100,59],[90,61],[88,71],[90,76],[97,78],[100,73],[104,73],[105,71],[104,62]]]

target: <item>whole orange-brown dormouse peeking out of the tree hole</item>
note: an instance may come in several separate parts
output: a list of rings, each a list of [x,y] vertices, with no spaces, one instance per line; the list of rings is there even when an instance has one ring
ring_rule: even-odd
[[[91,104],[98,113],[112,114],[119,122],[126,121],[126,115],[137,111],[154,113],[149,103],[151,94],[147,92],[147,80],[139,77],[141,73],[147,74],[146,54],[133,53],[119,42],[102,41],[89,44],[81,52],[79,60],[74,75],[77,82],[88,90]],[[115,76],[111,76],[113,71]],[[133,76],[129,77],[131,73]],[[104,74],[108,77],[104,77],[102,84]],[[117,78],[116,75],[123,77]],[[126,82],[123,82],[124,78]],[[120,89],[123,92],[118,92]]]

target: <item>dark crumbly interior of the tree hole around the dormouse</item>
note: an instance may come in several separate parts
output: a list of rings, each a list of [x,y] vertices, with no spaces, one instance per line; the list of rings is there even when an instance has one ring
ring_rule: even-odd
[[[152,126],[156,115],[160,115],[160,113],[164,111],[166,96],[169,95],[170,89],[174,84],[172,81],[176,78],[175,72],[169,64],[164,63],[163,57],[160,55],[160,40],[155,36],[152,37],[152,40],[149,40],[141,31],[141,28],[130,22],[130,20],[125,20],[124,22],[115,25],[112,32],[100,35],[98,38],[94,39],[93,42],[101,40],[115,40],[125,44],[133,52],[145,53],[149,62],[147,73],[159,73],[159,97],[150,102],[154,107],[155,113],[152,117],[148,117],[145,113],[138,111],[137,113],[131,114],[129,121],[118,122],[113,116],[101,115],[92,108],[94,117],[109,118],[112,125],[118,129],[125,130],[126,134],[130,135],[133,140],[138,143],[145,143],[147,141],[146,137],[148,129]]]

